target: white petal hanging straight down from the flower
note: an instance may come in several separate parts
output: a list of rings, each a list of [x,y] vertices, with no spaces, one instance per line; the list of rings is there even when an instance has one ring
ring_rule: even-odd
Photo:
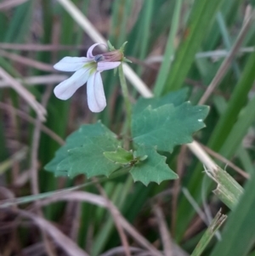
[[[105,109],[105,91],[99,72],[95,72],[87,82],[88,107],[90,111],[100,112]]]

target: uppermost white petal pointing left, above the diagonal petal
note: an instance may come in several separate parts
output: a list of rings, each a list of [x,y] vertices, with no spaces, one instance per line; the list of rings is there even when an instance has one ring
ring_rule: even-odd
[[[54,65],[58,71],[77,71],[86,63],[91,62],[86,57],[65,57]]]

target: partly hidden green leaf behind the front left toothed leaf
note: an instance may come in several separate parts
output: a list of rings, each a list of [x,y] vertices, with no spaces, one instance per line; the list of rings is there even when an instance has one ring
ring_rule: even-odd
[[[67,137],[66,144],[60,147],[58,151],[56,151],[54,159],[48,162],[48,164],[44,168],[50,172],[54,172],[56,176],[66,175],[66,171],[60,171],[58,165],[59,162],[62,162],[66,157],[69,156],[68,151],[85,145],[86,143],[88,143],[89,138],[97,137],[104,134],[113,139],[116,139],[116,134],[113,134],[101,122],[83,125],[76,132]],[[113,150],[116,150],[116,148],[114,148]]]

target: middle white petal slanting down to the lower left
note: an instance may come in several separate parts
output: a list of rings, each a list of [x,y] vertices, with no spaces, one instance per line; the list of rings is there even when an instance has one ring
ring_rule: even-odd
[[[54,88],[55,96],[60,100],[69,99],[78,88],[88,81],[89,71],[88,69],[82,68],[76,71],[70,78],[60,82],[59,85]]]

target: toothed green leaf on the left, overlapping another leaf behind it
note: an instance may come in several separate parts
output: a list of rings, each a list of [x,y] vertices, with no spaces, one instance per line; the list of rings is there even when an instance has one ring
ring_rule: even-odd
[[[88,178],[97,175],[109,176],[121,166],[104,156],[105,151],[114,151],[119,141],[110,134],[87,137],[86,143],[68,151],[68,157],[58,164],[58,172],[66,172],[68,176],[86,174]]]

